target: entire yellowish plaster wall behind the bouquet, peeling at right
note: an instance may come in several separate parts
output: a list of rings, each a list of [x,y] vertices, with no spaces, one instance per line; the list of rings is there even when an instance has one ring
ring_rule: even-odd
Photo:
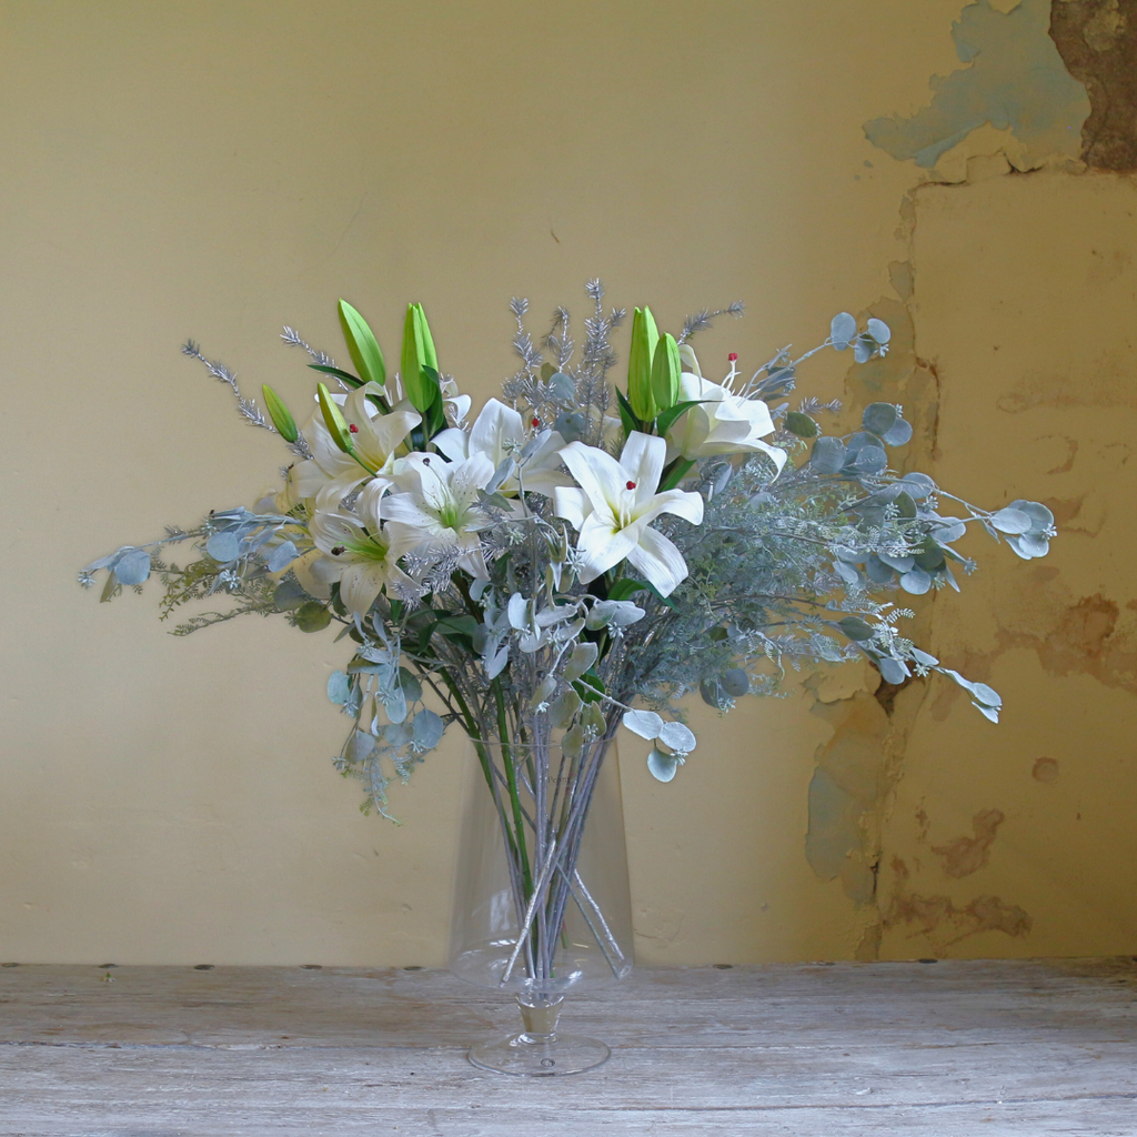
[[[400,828],[364,819],[330,636],[174,639],[73,573],[275,479],[186,335],[296,405],[282,323],[334,351],[346,296],[393,345],[418,299],[480,400],[509,297],[595,275],[666,323],[746,300],[704,358],[880,316],[887,359],[819,357],[802,393],[903,402],[908,466],[1062,530],[1029,564],[978,534],[963,595],[919,605],[997,728],[854,667],[694,708],[670,786],[625,747],[640,957],[1134,951],[1134,9],[0,6],[0,956],[441,961],[460,744]]]

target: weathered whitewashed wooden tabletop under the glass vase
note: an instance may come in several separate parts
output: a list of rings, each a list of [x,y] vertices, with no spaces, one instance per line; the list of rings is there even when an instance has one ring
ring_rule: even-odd
[[[1137,1135],[1137,963],[638,971],[566,1004],[603,1067],[465,1047],[506,997],[443,971],[0,969],[0,1134]]]

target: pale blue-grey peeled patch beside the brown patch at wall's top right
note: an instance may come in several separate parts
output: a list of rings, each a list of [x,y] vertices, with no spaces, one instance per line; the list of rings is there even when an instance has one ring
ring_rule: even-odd
[[[912,117],[865,123],[869,141],[930,169],[989,124],[1010,131],[1020,144],[1007,153],[1018,169],[1037,168],[1054,155],[1078,158],[1090,101],[1049,38],[1049,0],[1022,0],[1006,13],[988,0],[968,5],[952,25],[965,66],[933,75],[931,102]]]

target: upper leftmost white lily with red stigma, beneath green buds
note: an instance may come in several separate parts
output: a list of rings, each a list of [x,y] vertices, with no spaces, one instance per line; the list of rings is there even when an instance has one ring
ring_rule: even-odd
[[[368,391],[379,393],[380,390],[377,384],[370,383],[356,388],[343,400],[343,417],[351,430],[358,462],[332,441],[323,416],[318,412],[313,415],[305,428],[313,457],[292,467],[291,481],[297,497],[314,497],[317,508],[333,511],[360,482],[373,476],[385,485],[391,484],[395,451],[422,422],[422,416],[416,410],[376,414],[366,396]]]

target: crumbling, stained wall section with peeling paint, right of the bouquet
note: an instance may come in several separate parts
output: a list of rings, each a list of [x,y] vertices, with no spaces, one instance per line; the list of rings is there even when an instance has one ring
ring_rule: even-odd
[[[1004,571],[974,536],[985,571],[919,614],[943,662],[1007,698],[997,730],[923,680],[815,708],[833,735],[807,852],[860,913],[863,958],[1137,943],[1137,183],[1115,176],[1134,168],[1135,30],[1118,0],[970,5],[963,66],[865,124],[927,171],[896,297],[870,306],[903,330],[878,390],[922,408],[910,462],[970,500],[1045,500],[1062,540]]]

